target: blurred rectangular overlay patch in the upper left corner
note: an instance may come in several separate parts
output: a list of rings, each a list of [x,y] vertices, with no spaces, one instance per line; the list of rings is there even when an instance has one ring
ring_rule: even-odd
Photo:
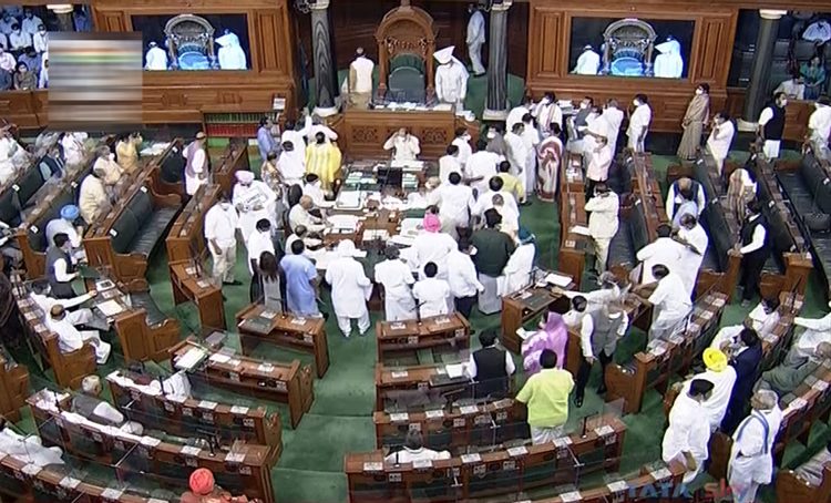
[[[142,123],[141,33],[49,38],[49,126],[101,131]]]

